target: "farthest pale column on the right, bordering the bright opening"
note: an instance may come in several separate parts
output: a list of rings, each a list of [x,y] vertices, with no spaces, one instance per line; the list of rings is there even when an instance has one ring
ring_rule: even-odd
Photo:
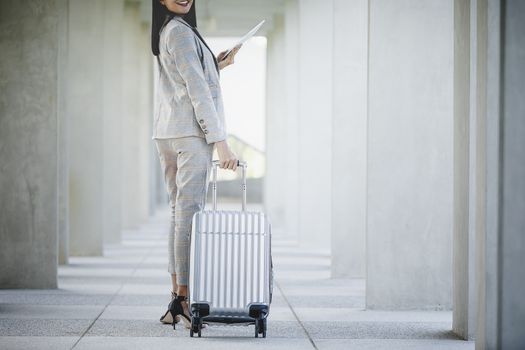
[[[275,236],[299,232],[299,4],[285,3],[267,43],[265,210]],[[283,188],[286,189],[283,195]]]

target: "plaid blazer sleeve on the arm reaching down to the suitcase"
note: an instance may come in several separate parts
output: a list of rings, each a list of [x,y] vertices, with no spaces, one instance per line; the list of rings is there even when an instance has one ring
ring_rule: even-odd
[[[204,76],[193,32],[189,28],[176,26],[167,34],[168,53],[174,58],[175,65],[186,83],[197,124],[204,133],[206,143],[225,140],[225,126],[219,119],[208,81]]]

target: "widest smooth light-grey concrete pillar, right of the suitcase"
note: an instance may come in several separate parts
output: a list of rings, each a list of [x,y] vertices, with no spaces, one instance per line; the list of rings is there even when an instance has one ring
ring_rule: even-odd
[[[369,11],[366,305],[449,309],[453,2]]]

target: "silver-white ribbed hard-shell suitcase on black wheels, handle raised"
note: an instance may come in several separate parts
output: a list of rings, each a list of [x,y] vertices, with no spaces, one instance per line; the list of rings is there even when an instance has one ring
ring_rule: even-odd
[[[242,210],[217,210],[218,165],[213,162],[213,208],[193,216],[190,336],[201,336],[204,321],[254,324],[255,337],[266,337],[273,288],[271,226],[264,213],[246,211],[245,162],[239,162]]]

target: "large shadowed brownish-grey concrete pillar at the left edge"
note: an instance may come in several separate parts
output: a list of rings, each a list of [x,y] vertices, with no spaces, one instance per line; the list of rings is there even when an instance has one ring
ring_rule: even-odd
[[[0,2],[0,287],[56,288],[67,2]]]

